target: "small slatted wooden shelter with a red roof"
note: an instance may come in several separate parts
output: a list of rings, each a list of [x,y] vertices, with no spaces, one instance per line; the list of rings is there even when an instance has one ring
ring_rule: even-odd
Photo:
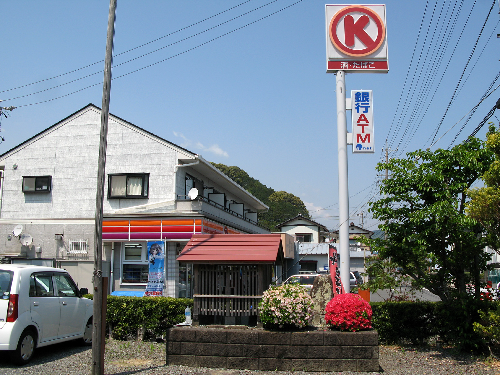
[[[258,316],[273,265],[284,264],[284,255],[280,234],[194,234],[177,260],[193,263],[193,323],[214,315],[227,324]]]

